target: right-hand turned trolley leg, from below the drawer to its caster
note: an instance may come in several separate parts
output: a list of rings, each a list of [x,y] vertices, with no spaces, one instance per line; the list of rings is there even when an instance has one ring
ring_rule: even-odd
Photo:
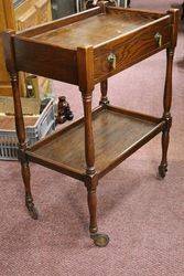
[[[173,55],[174,50],[166,50],[166,77],[165,77],[165,89],[164,89],[164,99],[163,99],[163,119],[165,120],[165,125],[163,127],[162,134],[162,160],[159,166],[159,176],[164,178],[167,171],[167,149],[170,142],[170,128],[172,125],[171,117],[171,104],[172,104],[172,68],[173,68]]]

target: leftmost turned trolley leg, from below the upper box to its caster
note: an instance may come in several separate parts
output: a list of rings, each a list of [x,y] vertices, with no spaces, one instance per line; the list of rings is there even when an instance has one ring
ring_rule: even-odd
[[[30,187],[30,168],[29,162],[26,159],[25,150],[26,150],[26,142],[25,142],[25,128],[23,121],[23,114],[22,114],[22,106],[20,99],[20,92],[19,92],[19,83],[18,83],[18,74],[10,74],[11,77],[11,85],[13,91],[13,98],[14,98],[14,113],[15,113],[15,127],[17,127],[17,135],[19,139],[19,160],[21,162],[22,168],[22,179],[24,182],[25,188],[25,205],[32,219],[37,219],[37,211],[34,208],[33,198],[31,194],[31,187]]]

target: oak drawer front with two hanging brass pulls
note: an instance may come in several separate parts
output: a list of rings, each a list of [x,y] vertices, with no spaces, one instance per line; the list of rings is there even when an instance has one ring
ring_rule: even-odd
[[[116,46],[107,45],[95,56],[95,83],[99,83],[118,72],[163,50],[171,41],[171,24],[152,26],[131,35]]]

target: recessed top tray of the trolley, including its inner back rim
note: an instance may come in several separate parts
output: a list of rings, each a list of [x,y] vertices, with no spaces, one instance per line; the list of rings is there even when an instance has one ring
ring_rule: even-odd
[[[169,15],[112,7],[108,7],[106,13],[102,13],[100,8],[95,8],[93,11],[23,31],[20,35],[64,49],[76,50],[88,45],[96,47],[162,19],[169,19]]]

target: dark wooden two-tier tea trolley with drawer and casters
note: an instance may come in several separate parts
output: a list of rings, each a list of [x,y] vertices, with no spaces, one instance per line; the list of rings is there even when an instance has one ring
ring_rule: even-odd
[[[36,162],[75,179],[87,188],[90,237],[106,246],[109,237],[98,233],[97,185],[100,178],[162,131],[161,178],[167,168],[169,134],[172,124],[172,65],[177,36],[178,11],[155,13],[98,7],[19,33],[3,34],[7,68],[13,88],[19,159],[25,185],[25,204],[37,219],[30,188],[29,162]],[[131,65],[166,49],[164,112],[161,118],[109,104],[107,79]],[[18,72],[78,85],[84,118],[26,146]],[[101,99],[91,110],[93,91],[100,83]]]

